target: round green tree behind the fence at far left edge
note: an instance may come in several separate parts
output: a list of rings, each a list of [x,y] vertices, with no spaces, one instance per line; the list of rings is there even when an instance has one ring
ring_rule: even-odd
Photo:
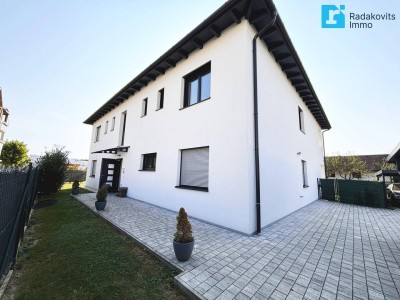
[[[29,162],[28,148],[20,141],[6,141],[0,156],[1,164],[7,167],[24,167]]]

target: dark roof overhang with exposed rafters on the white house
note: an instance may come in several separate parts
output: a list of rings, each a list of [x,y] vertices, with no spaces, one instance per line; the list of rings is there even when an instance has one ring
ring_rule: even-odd
[[[187,59],[190,53],[201,49],[206,42],[214,37],[220,37],[226,28],[234,23],[240,23],[243,17],[259,31],[272,19],[274,11],[275,5],[272,0],[230,0],[226,2],[124,86],[84,123],[93,124],[130,96],[140,91],[141,88],[147,86],[151,81],[156,80],[158,76],[165,74],[168,69],[175,67],[179,61]],[[321,128],[330,129],[329,120],[279,16],[275,26],[267,30],[261,36],[261,39]]]

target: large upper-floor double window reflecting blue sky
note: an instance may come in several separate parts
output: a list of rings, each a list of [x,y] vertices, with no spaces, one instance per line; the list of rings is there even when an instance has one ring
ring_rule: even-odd
[[[210,98],[211,62],[186,75],[184,79],[184,107],[199,103]]]

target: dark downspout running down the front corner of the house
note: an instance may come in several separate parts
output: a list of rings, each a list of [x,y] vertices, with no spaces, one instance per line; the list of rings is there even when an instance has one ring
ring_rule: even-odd
[[[275,10],[274,17],[263,29],[256,33],[253,38],[253,93],[254,93],[254,160],[256,170],[256,218],[257,233],[261,233],[261,204],[260,204],[260,159],[258,149],[258,89],[257,89],[257,38],[259,38],[276,21],[278,12]]]

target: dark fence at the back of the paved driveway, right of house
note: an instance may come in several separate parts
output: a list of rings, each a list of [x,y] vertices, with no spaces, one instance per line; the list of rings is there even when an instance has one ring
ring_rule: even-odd
[[[385,185],[383,182],[318,179],[320,199],[339,201],[372,207],[386,207]]]

